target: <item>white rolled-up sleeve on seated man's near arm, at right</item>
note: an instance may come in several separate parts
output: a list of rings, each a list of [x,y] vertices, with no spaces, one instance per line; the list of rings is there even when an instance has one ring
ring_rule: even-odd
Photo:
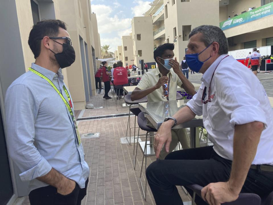
[[[266,113],[245,79],[224,68],[217,71],[215,78],[217,99],[232,126],[258,121],[267,127]]]

